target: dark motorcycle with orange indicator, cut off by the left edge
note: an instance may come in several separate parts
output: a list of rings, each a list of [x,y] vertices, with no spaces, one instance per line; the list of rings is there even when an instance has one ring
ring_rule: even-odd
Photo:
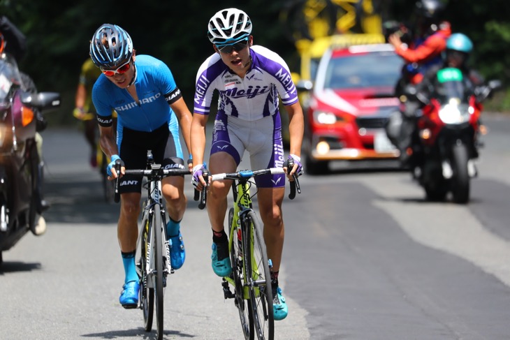
[[[56,92],[24,90],[15,59],[0,54],[0,264],[2,251],[13,247],[41,216],[42,168],[36,142],[36,110],[60,105]]]

